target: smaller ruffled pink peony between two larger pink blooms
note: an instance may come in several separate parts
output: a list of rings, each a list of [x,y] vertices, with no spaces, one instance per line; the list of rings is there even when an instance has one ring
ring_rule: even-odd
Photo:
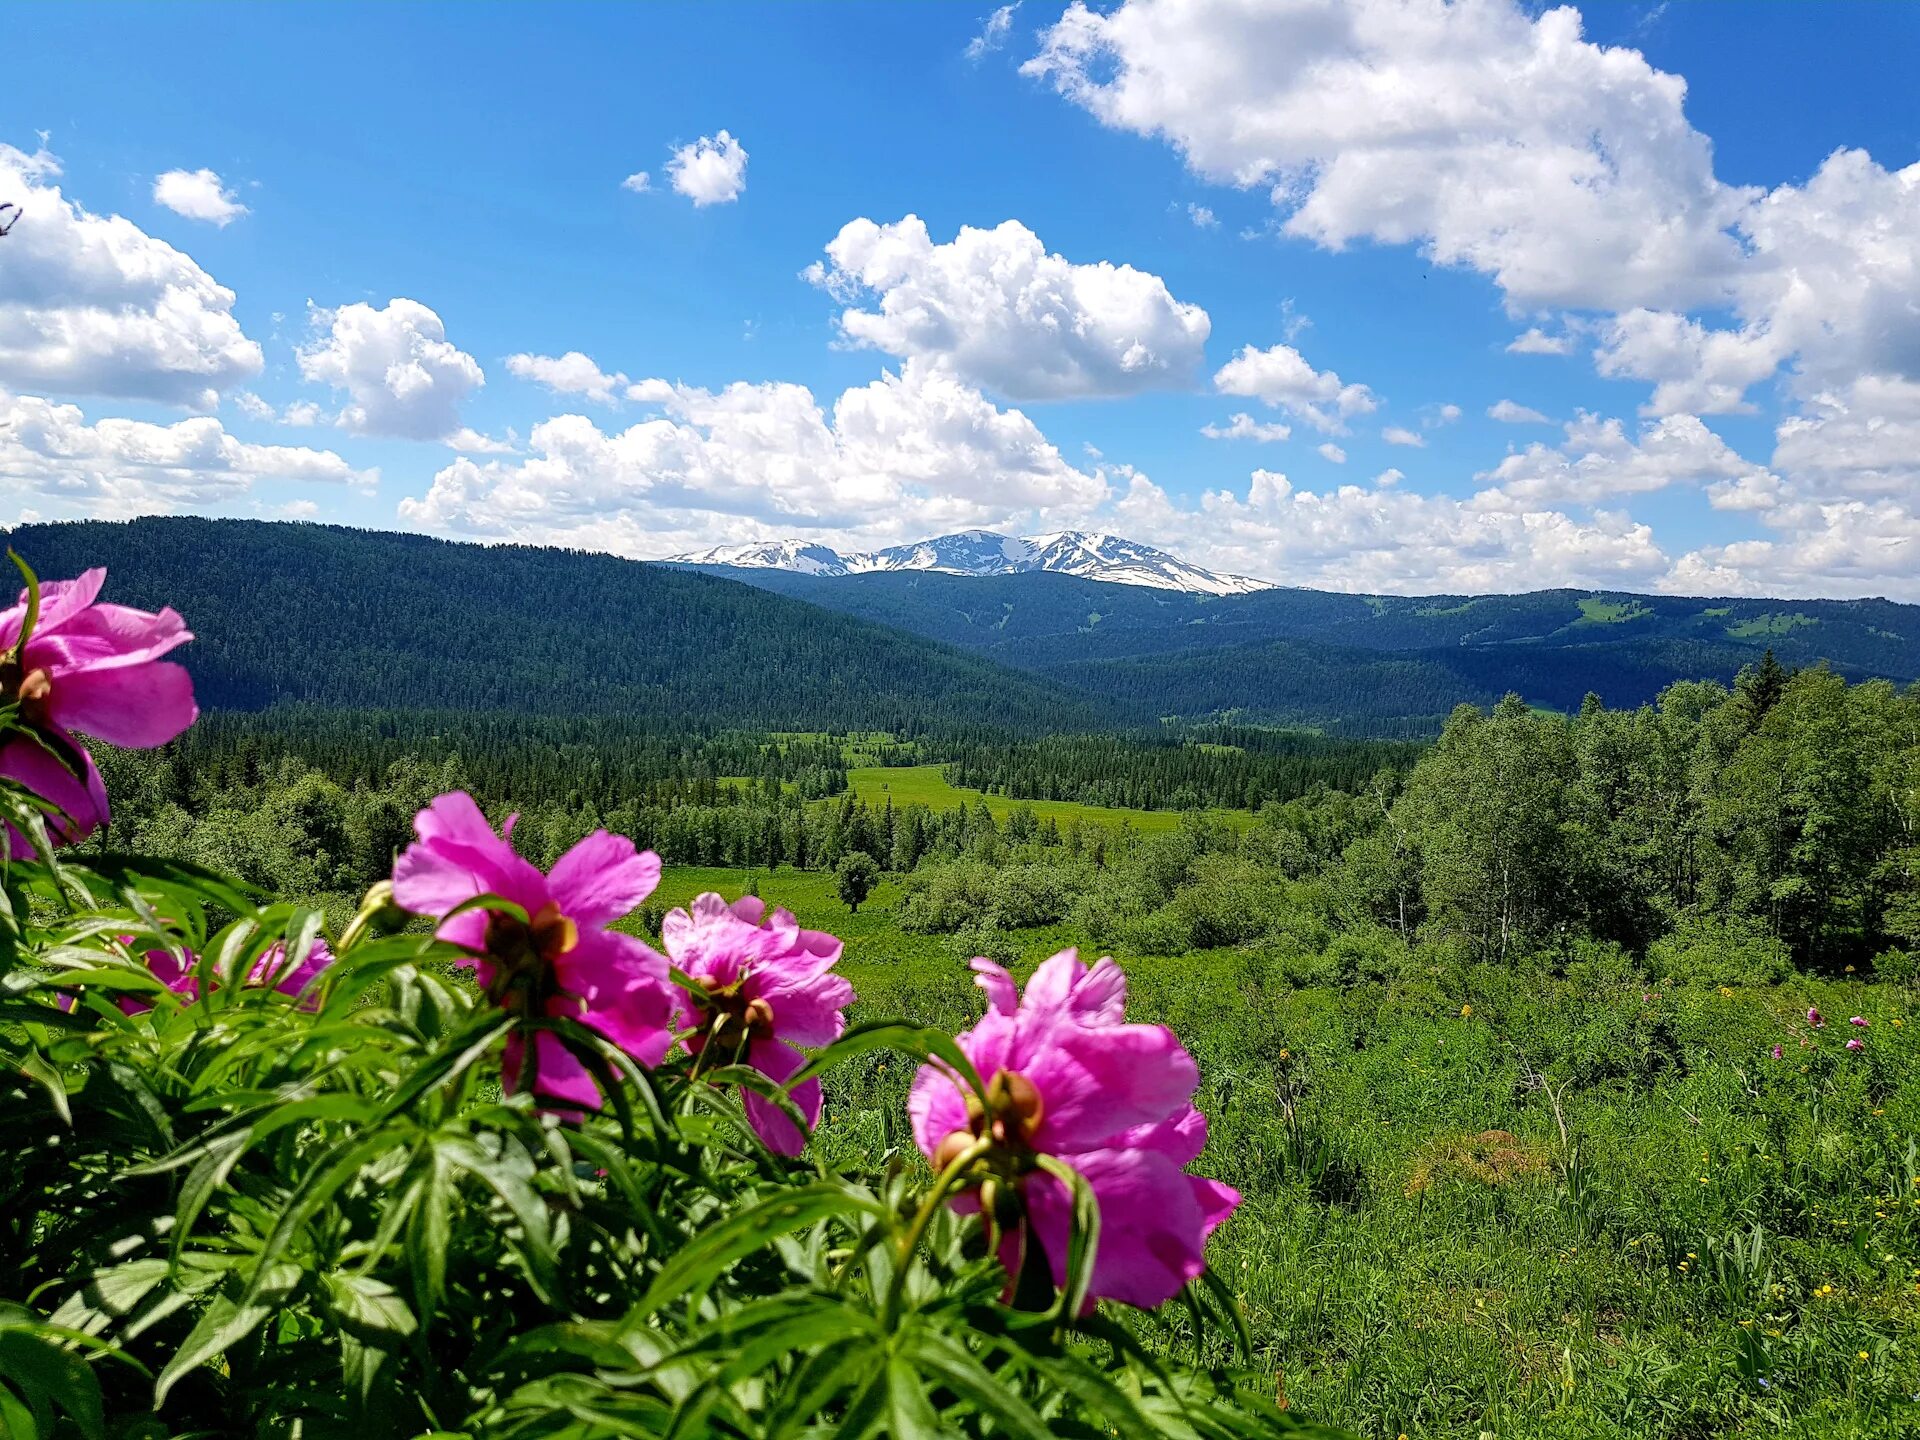
[[[680,995],[678,1027],[693,1027],[693,1054],[720,1046],[730,1064],[737,1056],[774,1081],[785,1081],[806,1064],[793,1044],[831,1044],[847,1029],[841,1014],[852,1004],[852,985],[828,972],[841,956],[841,943],[818,929],[801,929],[791,914],[766,906],[755,895],[728,904],[701,895],[691,912],[668,910],[660,941],[687,975],[707,989],[707,1000]],[[743,1096],[747,1119],[768,1150],[797,1156],[806,1148],[801,1129],[762,1096]],[[820,1121],[820,1081],[793,1089],[793,1102],[808,1125]]]

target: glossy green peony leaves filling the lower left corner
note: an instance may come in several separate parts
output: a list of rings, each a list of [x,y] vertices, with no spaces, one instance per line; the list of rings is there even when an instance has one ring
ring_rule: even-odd
[[[307,1000],[238,981],[319,918],[207,872],[13,862],[6,899],[8,1434],[1304,1432],[1160,1321],[1004,1304],[918,1165],[770,1156],[745,1075],[541,1021],[612,1098],[541,1116],[501,1085],[513,1018],[378,897]],[[159,945],[202,954],[198,995]],[[803,1077],[876,1054],[964,1066],[879,1025]],[[1192,1315],[1231,1344],[1231,1304]]]

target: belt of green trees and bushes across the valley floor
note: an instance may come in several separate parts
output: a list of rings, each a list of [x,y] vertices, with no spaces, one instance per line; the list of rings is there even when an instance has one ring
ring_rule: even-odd
[[[447,735],[361,741],[344,726],[303,749],[300,733],[227,722],[192,747],[108,756],[113,843],[290,891],[355,889],[386,872],[424,799],[465,785],[518,810],[515,843],[541,862],[599,826],[674,864],[833,868],[858,851],[908,876],[902,924],[964,931],[981,952],[995,931],[1066,916],[1133,952],[1231,945],[1283,964],[1601,945],[1753,979],[1920,947],[1920,693],[1770,659],[1732,687],[1682,682],[1636,708],[1461,707],[1411,768],[1398,747],[1260,732],[952,756],[958,781],[1014,795],[1162,803],[1219,799],[1256,785],[1261,758],[1284,762],[1258,783],[1290,783],[1250,824],[1194,810],[1160,835],[1025,806],[868,804],[835,793],[833,737],[634,739],[622,770],[540,730],[472,755]]]

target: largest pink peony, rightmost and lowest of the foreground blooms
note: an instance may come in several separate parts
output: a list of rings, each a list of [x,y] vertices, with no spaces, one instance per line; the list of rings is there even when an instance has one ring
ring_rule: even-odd
[[[1125,1023],[1127,979],[1112,960],[1089,970],[1062,950],[1023,996],[993,960],[973,972],[989,1010],[958,1043],[993,1108],[983,1112],[945,1066],[922,1066],[906,1102],[914,1139],[935,1165],[993,1140],[987,1164],[1010,1177],[1018,1200],[1000,1263],[1018,1277],[1023,1244],[1037,1244],[1054,1284],[1066,1283],[1071,1194],[1033,1156],[1066,1162],[1100,1202],[1091,1298],[1162,1304],[1206,1267],[1206,1236],[1240,1204],[1236,1190],[1185,1173],[1206,1144],[1192,1056],[1164,1025]],[[977,1206],[979,1194],[958,1202]]]

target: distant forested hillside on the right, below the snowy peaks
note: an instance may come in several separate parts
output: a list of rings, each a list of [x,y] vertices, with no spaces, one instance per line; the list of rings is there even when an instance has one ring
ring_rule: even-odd
[[[1430,735],[1453,705],[1517,691],[1572,710],[1651,701],[1674,680],[1730,684],[1772,649],[1789,666],[1920,678],[1920,607],[1893,601],[1528,595],[1190,595],[1075,576],[716,570],[966,645],[1167,716]]]

